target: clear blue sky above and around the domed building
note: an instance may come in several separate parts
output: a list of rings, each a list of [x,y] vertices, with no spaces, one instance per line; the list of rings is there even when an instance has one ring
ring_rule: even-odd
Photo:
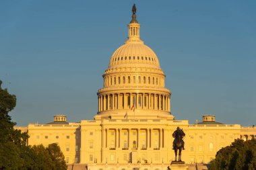
[[[92,119],[137,5],[177,120],[256,125],[256,1],[1,1],[0,79],[19,126]]]

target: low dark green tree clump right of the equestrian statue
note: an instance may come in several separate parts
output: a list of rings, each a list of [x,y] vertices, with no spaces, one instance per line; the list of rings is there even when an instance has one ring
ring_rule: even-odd
[[[210,163],[210,170],[255,170],[256,140],[237,139],[230,146],[220,149],[216,159]]]

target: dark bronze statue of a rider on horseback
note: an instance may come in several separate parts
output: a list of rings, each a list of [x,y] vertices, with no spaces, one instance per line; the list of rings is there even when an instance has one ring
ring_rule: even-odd
[[[179,158],[178,161],[181,162],[181,151],[184,150],[184,141],[183,137],[185,136],[185,133],[182,129],[177,127],[177,130],[175,130],[172,134],[172,137],[174,137],[173,143],[172,143],[172,149],[175,152],[175,161],[177,161],[177,151],[179,150]]]

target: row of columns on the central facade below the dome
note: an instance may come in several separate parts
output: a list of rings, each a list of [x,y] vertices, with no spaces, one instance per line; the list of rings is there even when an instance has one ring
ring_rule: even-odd
[[[110,141],[110,131],[115,131],[115,147],[114,148],[123,148],[123,143],[121,143],[121,138],[123,137],[123,139],[127,139],[127,149],[130,148],[136,148],[136,149],[140,149],[143,148],[143,144],[140,138],[141,138],[141,131],[139,131],[139,129],[104,129],[103,134],[103,147],[104,148],[113,148],[111,146],[111,141]],[[121,130],[127,130],[127,138],[125,138],[124,134],[121,135]],[[131,140],[131,132],[133,130],[136,130],[137,134],[136,134],[136,139]],[[152,129],[152,128],[147,128],[147,129],[140,129],[140,130],[145,130],[146,132],[146,141],[145,141],[145,146],[144,148],[154,148],[154,149],[160,149],[160,148],[164,148],[164,129]],[[157,141],[158,141],[158,146],[156,147],[153,141],[153,132],[156,132],[156,130],[158,130],[158,137],[157,137]],[[134,147],[134,143],[133,141],[135,141],[136,143],[136,147]]]

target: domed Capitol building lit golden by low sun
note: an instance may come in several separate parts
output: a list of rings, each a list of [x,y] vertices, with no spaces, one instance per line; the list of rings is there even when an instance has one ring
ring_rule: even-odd
[[[177,127],[186,134],[182,160],[187,165],[209,163],[236,138],[256,137],[254,126],[220,123],[212,114],[195,124],[176,120],[160,60],[139,33],[133,11],[128,39],[115,50],[104,71],[94,118],[72,123],[56,115],[50,123],[16,127],[28,132],[29,145],[56,142],[67,163],[77,169],[162,170],[175,159],[172,133]]]

